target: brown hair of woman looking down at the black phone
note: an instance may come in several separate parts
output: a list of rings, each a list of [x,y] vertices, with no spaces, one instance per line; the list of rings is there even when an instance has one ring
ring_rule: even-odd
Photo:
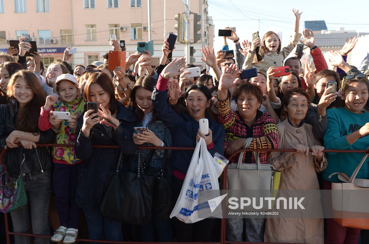
[[[118,105],[117,100],[115,99],[115,89],[113,86],[113,83],[111,82],[110,77],[105,74],[104,72],[99,73],[93,73],[90,75],[89,79],[86,82],[85,89],[83,90],[83,95],[87,102],[91,102],[90,97],[90,88],[93,84],[98,84],[103,88],[104,91],[106,91],[110,96],[110,112],[111,114],[115,113],[117,111]]]

